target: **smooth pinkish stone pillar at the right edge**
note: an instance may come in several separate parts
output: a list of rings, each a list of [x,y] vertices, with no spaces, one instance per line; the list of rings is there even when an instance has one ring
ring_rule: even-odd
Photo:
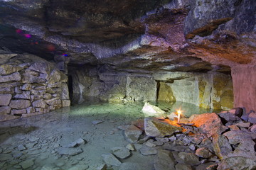
[[[256,66],[243,65],[231,68],[234,106],[245,107],[246,112],[256,111]]]

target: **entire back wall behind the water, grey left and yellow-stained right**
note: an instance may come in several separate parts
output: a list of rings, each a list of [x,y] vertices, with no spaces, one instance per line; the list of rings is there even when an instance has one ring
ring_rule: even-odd
[[[73,91],[102,101],[183,101],[203,108],[233,108],[230,75],[218,72],[122,74],[83,68],[72,73]],[[78,102],[78,103],[80,103]]]

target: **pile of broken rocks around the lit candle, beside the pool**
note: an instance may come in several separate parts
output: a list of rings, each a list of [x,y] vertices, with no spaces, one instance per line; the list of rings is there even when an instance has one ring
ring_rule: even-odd
[[[117,147],[112,149],[113,154],[102,157],[106,164],[120,169],[127,169],[128,164],[137,166],[122,163],[122,159],[132,157],[129,152],[155,155],[156,170],[255,169],[255,125],[243,120],[240,111],[241,108],[234,108],[218,114],[192,115],[190,122],[182,125],[157,118],[134,121],[134,125],[124,128],[124,135],[131,143],[129,147],[136,150]]]

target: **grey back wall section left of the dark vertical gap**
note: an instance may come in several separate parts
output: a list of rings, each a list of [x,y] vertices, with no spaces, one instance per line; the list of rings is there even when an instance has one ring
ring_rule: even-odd
[[[75,97],[78,103],[85,101],[86,96],[102,101],[156,101],[156,81],[151,75],[99,72],[96,68],[70,74],[73,93],[81,94]]]

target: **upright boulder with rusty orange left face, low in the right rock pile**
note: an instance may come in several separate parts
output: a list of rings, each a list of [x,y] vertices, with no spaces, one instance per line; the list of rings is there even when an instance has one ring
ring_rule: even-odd
[[[220,159],[224,159],[232,152],[232,147],[227,137],[216,133],[213,135],[213,150]]]

